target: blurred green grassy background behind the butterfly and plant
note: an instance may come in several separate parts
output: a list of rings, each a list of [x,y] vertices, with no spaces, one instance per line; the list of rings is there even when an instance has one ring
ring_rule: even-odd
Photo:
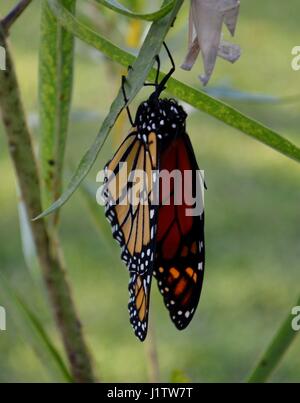
[[[14,3],[1,2],[1,14]],[[158,3],[153,2],[151,9]],[[78,8],[86,23],[126,46],[123,38],[132,29],[130,20],[104,13],[92,2],[79,1]],[[235,38],[242,47],[242,58],[233,66],[219,60],[208,87],[222,88],[223,96],[229,96],[228,103],[296,144],[300,144],[300,72],[291,69],[291,49],[300,45],[299,15],[298,0],[289,0],[288,4],[280,0],[243,0]],[[187,16],[188,4],[167,39],[178,66],[186,52]],[[34,1],[13,27],[10,38],[36,139],[39,25],[40,2]],[[168,69],[167,60],[164,69]],[[200,88],[197,76],[201,71],[199,60],[191,73],[178,69],[175,76]],[[67,152],[70,171],[95,137],[119,87],[120,74],[118,66],[77,42]],[[224,87],[272,96],[274,102],[263,102],[263,96],[256,97],[255,102],[250,102],[250,97],[248,101],[234,99],[232,91]],[[134,102],[133,111],[147,93],[144,90]],[[293,102],[275,102],[298,94]],[[182,333],[169,320],[156,287],[152,289],[151,321],[161,380],[170,381],[174,373],[183,373],[195,382],[241,381],[300,292],[300,167],[209,116],[190,112],[188,131],[208,185],[207,272],[197,314]],[[86,183],[96,188],[96,172],[112,156],[128,129],[121,119]],[[1,274],[28,301],[59,346],[38,269],[27,267],[23,257],[15,177],[1,123],[0,174]],[[66,181],[68,178],[67,171]],[[103,212],[98,209],[102,226]],[[118,247],[111,237],[101,237],[80,192],[63,209],[61,235],[69,280],[99,376],[107,382],[147,381],[146,348],[135,339],[128,322],[128,274]],[[1,294],[0,305],[7,307]],[[0,382],[55,380],[8,308],[7,316],[8,329],[0,333]],[[299,381],[299,355],[300,340],[296,339],[272,380]]]

